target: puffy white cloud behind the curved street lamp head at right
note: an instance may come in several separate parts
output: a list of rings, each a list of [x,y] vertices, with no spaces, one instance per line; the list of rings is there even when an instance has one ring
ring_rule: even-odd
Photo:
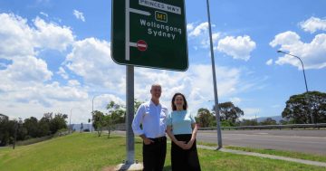
[[[281,46],[279,49],[299,56],[305,69],[321,69],[326,67],[326,33],[317,34],[311,43],[303,43],[300,36],[293,32],[279,33],[270,43],[272,47]],[[301,62],[290,56],[279,57],[276,64],[291,64],[302,70]]]

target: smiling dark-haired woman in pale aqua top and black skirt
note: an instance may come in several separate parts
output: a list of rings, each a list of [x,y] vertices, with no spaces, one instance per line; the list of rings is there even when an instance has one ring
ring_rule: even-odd
[[[172,170],[200,170],[196,147],[197,125],[194,117],[187,110],[185,96],[176,93],[172,98],[171,106],[172,112],[167,120],[167,133],[172,140]]]

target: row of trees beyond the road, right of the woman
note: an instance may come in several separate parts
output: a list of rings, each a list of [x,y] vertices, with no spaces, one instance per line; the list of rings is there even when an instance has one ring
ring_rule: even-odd
[[[276,125],[276,120],[267,118],[261,122],[256,119],[242,119],[244,111],[231,101],[218,104],[222,127]],[[198,109],[197,123],[200,127],[216,127],[215,107],[212,110]],[[309,91],[292,95],[286,101],[279,124],[326,123],[326,93]]]

